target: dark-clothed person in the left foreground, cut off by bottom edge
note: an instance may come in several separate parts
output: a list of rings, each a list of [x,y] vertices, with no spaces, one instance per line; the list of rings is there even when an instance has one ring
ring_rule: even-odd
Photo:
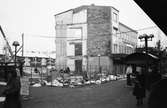
[[[13,69],[7,73],[7,86],[2,93],[6,97],[4,108],[21,108],[20,88],[20,79]]]

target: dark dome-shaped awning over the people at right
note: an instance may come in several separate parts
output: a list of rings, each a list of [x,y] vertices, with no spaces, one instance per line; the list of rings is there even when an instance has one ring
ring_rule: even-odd
[[[133,53],[125,57],[124,62],[126,64],[136,64],[136,65],[144,65],[146,63],[153,64],[157,62],[159,58],[150,53]],[[148,62],[147,62],[148,61]]]

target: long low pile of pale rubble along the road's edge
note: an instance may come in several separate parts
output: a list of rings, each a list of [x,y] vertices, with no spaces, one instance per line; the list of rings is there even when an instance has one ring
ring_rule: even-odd
[[[46,80],[42,81],[39,83],[35,83],[32,86],[33,87],[41,87],[43,85],[45,86],[53,86],[53,87],[81,87],[81,86],[86,86],[86,85],[90,85],[90,84],[102,84],[102,83],[106,83],[109,81],[115,81],[118,79],[123,78],[122,76],[115,76],[115,75],[101,75],[101,77],[99,79],[90,79],[90,80],[84,80],[83,76],[69,76],[66,75],[65,77],[57,77],[56,79],[53,79],[52,82],[48,82]]]

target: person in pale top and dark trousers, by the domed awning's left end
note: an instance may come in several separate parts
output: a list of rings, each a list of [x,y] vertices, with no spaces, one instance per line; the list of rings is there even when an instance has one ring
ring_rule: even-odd
[[[132,66],[129,65],[126,69],[126,75],[127,75],[127,85],[132,86],[132,81],[131,81],[131,74],[132,74]]]

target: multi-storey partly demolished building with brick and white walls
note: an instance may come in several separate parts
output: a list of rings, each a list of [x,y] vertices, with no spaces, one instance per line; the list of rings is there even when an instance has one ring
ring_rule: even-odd
[[[119,22],[111,6],[84,5],[55,15],[57,68],[114,71],[114,57],[130,54],[137,32]],[[106,67],[106,68],[104,68]]]

